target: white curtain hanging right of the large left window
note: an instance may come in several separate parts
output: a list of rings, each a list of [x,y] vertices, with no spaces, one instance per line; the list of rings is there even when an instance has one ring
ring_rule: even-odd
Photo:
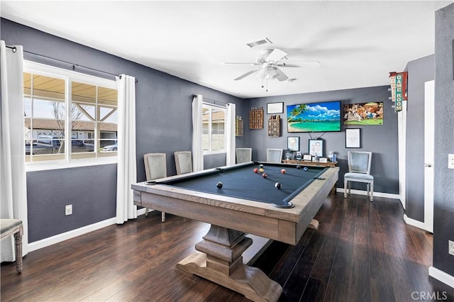
[[[118,166],[116,223],[137,218],[131,184],[137,182],[135,161],[135,77],[121,74],[118,83]]]

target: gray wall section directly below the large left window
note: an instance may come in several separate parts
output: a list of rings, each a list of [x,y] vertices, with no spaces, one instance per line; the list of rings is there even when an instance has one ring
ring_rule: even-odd
[[[116,164],[29,172],[27,187],[29,242],[116,215]]]

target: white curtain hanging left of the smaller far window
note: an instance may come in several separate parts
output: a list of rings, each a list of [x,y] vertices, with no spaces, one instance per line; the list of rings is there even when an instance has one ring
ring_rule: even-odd
[[[204,169],[204,149],[201,145],[203,100],[201,94],[192,99],[192,169],[194,172]]]

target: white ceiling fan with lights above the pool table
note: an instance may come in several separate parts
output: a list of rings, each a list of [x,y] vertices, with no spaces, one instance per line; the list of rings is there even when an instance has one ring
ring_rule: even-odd
[[[247,65],[257,65],[258,67],[255,69],[250,70],[249,72],[246,72],[245,74],[240,75],[240,77],[237,77],[234,79],[235,81],[238,81],[240,79],[244,79],[245,77],[248,77],[250,74],[257,73],[257,77],[259,79],[263,80],[269,80],[269,79],[277,79],[279,81],[285,81],[289,79],[287,77],[287,74],[284,74],[280,68],[282,67],[308,67],[308,66],[320,66],[320,62],[309,62],[309,61],[304,61],[302,62],[301,65],[288,65],[285,62],[282,62],[282,60],[287,60],[287,52],[284,52],[284,50],[280,50],[279,48],[275,49],[265,49],[260,52],[260,55],[255,59],[255,63],[225,63],[225,64],[230,64],[230,65],[242,65],[242,64],[247,64]]]

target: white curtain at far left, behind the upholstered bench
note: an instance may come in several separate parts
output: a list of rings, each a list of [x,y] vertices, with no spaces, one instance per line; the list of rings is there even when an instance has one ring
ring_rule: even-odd
[[[23,123],[23,50],[0,40],[0,203],[1,218],[23,223],[22,254],[28,252],[27,182]],[[0,261],[16,259],[13,236],[1,241]]]

